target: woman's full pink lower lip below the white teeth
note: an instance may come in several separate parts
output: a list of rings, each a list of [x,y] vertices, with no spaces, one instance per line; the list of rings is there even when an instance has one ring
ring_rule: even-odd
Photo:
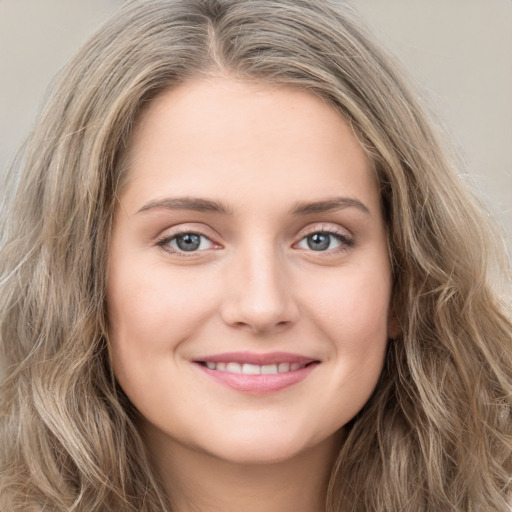
[[[206,366],[196,366],[216,382],[236,391],[253,394],[265,394],[288,388],[303,381],[317,366],[312,363],[299,370],[283,373],[245,375],[243,373],[223,372],[222,370],[210,370]]]

